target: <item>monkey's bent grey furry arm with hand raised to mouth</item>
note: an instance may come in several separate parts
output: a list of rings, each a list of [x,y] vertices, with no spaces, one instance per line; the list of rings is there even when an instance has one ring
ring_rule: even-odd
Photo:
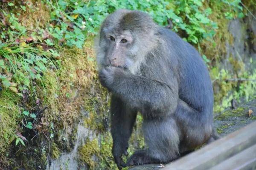
[[[108,67],[100,72],[102,85],[119,96],[129,107],[144,113],[173,113],[177,107],[178,85],[141,77],[121,68]],[[154,115],[156,116],[156,115]]]

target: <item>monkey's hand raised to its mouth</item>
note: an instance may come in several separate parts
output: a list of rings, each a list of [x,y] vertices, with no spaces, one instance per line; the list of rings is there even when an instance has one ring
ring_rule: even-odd
[[[123,68],[108,66],[99,71],[99,80],[104,87],[111,91],[115,79],[123,77],[124,74],[125,70]]]

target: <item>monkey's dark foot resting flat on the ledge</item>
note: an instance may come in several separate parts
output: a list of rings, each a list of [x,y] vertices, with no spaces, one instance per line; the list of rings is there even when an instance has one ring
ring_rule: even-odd
[[[151,164],[155,162],[156,160],[148,156],[146,150],[138,150],[127,160],[126,166]]]

